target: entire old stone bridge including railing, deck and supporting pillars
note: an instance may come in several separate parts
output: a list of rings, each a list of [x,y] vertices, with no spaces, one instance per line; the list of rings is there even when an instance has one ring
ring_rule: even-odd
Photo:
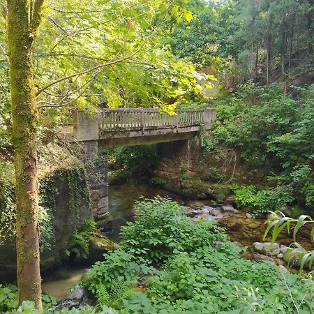
[[[191,140],[202,130],[209,130],[215,110],[175,110],[160,114],[156,109],[105,109],[92,117],[75,112],[73,137],[82,146],[82,160],[89,164],[93,212],[101,227],[107,222],[107,148],[158,144],[160,158],[189,167],[193,159]]]

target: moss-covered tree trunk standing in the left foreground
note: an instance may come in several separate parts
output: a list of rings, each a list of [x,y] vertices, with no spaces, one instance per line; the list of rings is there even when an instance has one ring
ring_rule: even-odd
[[[42,310],[39,267],[38,117],[33,82],[32,46],[43,10],[42,0],[8,0],[10,93],[15,149],[17,208],[17,285],[20,304],[34,301]]]

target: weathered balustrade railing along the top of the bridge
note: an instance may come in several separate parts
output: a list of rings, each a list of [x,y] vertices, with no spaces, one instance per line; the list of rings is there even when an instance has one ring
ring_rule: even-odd
[[[174,110],[176,115],[160,114],[156,109],[108,109],[99,110],[99,127],[101,130],[134,128],[183,128],[187,126],[211,127],[215,110]]]

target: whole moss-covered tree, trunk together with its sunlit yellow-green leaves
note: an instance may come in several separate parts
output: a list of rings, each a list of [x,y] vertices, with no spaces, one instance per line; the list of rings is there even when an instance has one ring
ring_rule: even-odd
[[[77,104],[80,99],[80,105],[87,105],[87,101],[84,101],[87,91],[89,103],[99,105],[96,100],[101,100],[102,94],[107,93],[107,101],[118,93],[123,94],[121,82],[126,84],[128,77],[136,77],[139,70],[142,77],[147,77],[147,80],[142,80],[143,85],[146,84],[146,90],[140,94],[143,98],[146,93],[147,99],[153,85],[155,95],[162,95],[167,91],[167,98],[171,98],[177,96],[178,90],[182,93],[184,88],[193,89],[193,84],[196,85],[197,81],[196,76],[193,76],[193,67],[177,62],[167,50],[154,47],[157,42],[151,42],[160,26],[170,17],[179,19],[183,16],[190,19],[190,13],[184,7],[181,8],[186,0],[82,0],[67,1],[59,7],[54,6],[60,4],[59,1],[50,0],[47,3],[47,15],[52,12],[58,14],[59,20],[54,19],[51,14],[48,19],[50,28],[46,28],[38,36],[40,22],[43,20],[44,1],[8,0],[7,6],[1,2],[7,25],[8,54],[6,43],[0,43],[1,54],[10,63],[19,298],[20,303],[24,300],[34,301],[40,311],[42,305],[36,167],[38,105],[59,108],[71,103]],[[3,20],[0,23],[4,24]],[[57,36],[56,29],[59,31]],[[47,33],[48,36],[45,37]],[[43,44],[39,48],[34,45],[37,37],[37,42]],[[38,59],[43,59],[43,56],[37,56],[36,59],[33,52],[43,54],[50,43],[40,40],[52,40],[54,37],[57,40],[49,46],[50,51],[44,56],[46,61],[39,62]],[[140,54],[142,51],[145,53]],[[154,64],[156,51],[163,58]],[[140,58],[136,59],[139,55]],[[33,60],[36,60],[36,71]],[[107,70],[118,64],[112,71]],[[172,77],[177,77],[177,80],[174,80],[173,88],[169,88],[168,85],[171,84],[167,82]],[[184,78],[181,80],[181,77]],[[113,86],[119,88],[114,91]],[[135,94],[138,87],[130,90]],[[137,99],[140,99],[139,94],[131,94],[128,99],[131,98],[135,105]],[[156,97],[156,103],[159,101],[163,100]],[[167,108],[167,103],[163,104]],[[119,101],[114,105],[119,105]]]

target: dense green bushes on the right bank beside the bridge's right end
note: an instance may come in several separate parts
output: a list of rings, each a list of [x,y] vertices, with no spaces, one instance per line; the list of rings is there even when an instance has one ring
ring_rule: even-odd
[[[227,146],[250,177],[262,172],[256,186],[231,186],[237,204],[257,214],[287,204],[313,207],[313,85],[291,93],[298,96],[285,94],[281,84],[247,84],[216,102],[208,150],[219,154],[221,145]]]

